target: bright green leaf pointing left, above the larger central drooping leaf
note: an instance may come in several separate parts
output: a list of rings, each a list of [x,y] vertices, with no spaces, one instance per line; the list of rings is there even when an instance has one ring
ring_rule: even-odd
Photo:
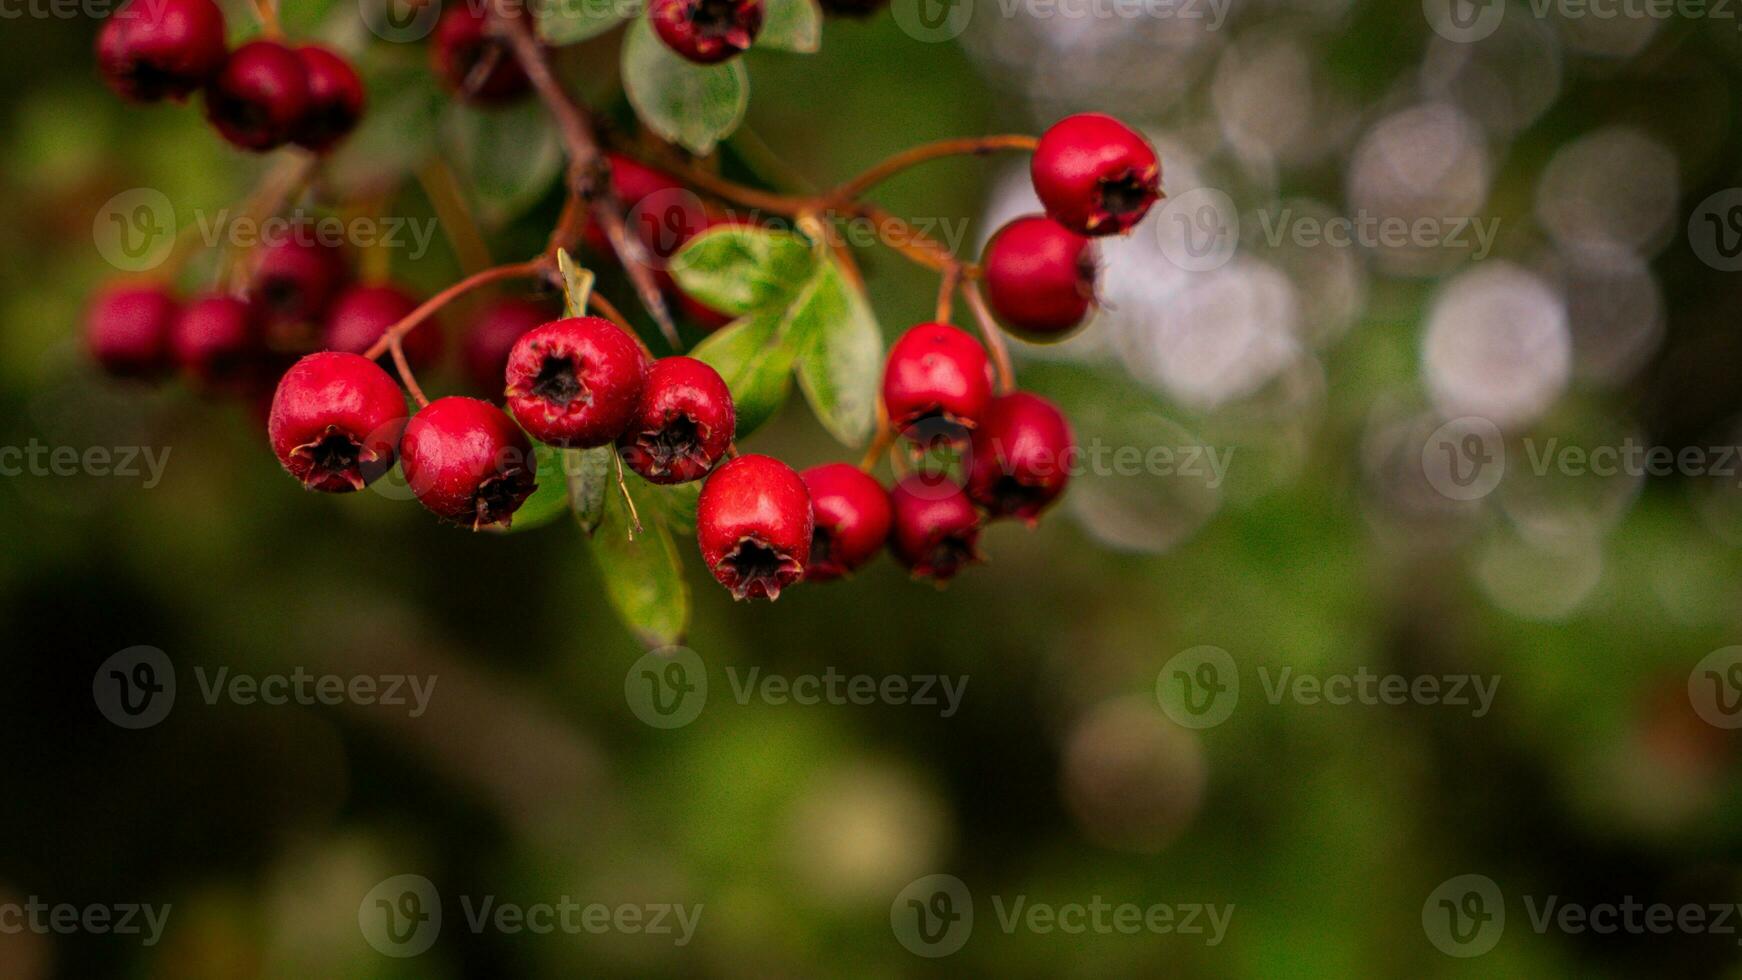
[[[685,242],[669,272],[692,298],[740,317],[791,303],[815,268],[815,251],[791,232],[718,225]]]

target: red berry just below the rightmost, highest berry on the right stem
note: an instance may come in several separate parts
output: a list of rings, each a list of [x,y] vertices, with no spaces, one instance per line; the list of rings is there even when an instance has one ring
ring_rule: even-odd
[[[1094,240],[1050,218],[1030,214],[1000,228],[982,266],[986,301],[1028,339],[1063,339],[1094,306]]]

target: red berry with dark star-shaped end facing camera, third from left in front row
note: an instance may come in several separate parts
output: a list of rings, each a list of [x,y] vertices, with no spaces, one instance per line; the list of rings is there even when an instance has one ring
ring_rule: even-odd
[[[556,320],[509,350],[509,411],[540,442],[608,446],[634,420],[646,373],[634,338],[610,320]]]

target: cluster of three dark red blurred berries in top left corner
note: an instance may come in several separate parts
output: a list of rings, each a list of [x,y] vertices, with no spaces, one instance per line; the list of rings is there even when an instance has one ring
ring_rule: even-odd
[[[129,0],[98,33],[98,68],[134,103],[206,94],[206,118],[232,144],[287,143],[324,153],[362,118],[362,78],[321,45],[253,40],[228,50],[213,0]]]

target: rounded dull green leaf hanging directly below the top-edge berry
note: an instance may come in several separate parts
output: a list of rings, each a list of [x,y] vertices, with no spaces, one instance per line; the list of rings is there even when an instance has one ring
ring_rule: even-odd
[[[744,59],[723,64],[693,64],[667,49],[646,17],[629,24],[624,37],[624,91],[636,115],[655,134],[697,155],[744,122],[751,101]]]

